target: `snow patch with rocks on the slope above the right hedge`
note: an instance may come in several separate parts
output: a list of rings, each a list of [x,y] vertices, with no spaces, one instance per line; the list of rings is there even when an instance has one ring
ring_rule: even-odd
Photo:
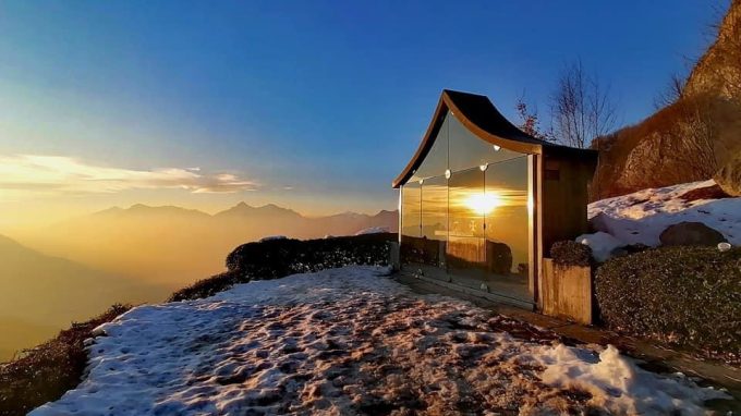
[[[741,198],[680,198],[689,191],[714,184],[713,180],[692,182],[598,200],[590,204],[588,216],[603,212],[607,231],[628,244],[656,246],[667,227],[696,221],[722,233],[731,244],[741,245]]]

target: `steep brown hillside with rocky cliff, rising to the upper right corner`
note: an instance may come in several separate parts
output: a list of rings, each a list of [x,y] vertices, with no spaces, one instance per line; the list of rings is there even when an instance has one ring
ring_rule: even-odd
[[[740,113],[741,0],[733,0],[680,98],[593,142],[599,166],[592,200],[714,178],[741,154]]]

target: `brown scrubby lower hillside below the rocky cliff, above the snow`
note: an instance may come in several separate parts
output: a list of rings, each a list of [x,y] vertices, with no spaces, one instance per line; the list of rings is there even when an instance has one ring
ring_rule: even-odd
[[[599,150],[599,164],[591,199],[713,178],[737,129],[726,120],[733,108],[710,96],[682,98],[639,124],[596,138],[592,148]]]

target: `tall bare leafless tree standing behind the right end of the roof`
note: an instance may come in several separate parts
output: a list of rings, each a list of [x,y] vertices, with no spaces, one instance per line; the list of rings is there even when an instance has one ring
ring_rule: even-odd
[[[617,115],[609,93],[609,86],[584,72],[581,61],[566,68],[550,98],[555,138],[567,146],[584,148],[611,131]]]

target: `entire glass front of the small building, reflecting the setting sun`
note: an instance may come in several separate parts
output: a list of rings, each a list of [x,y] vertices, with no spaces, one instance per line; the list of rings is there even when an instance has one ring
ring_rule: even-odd
[[[425,276],[532,302],[529,184],[527,155],[479,139],[448,113],[402,187],[402,261]]]

